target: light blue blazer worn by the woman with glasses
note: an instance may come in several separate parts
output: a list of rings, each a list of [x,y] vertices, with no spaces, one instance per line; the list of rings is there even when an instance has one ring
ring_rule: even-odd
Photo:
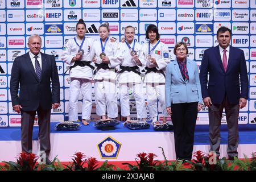
[[[172,103],[199,102],[203,104],[196,61],[187,59],[187,69],[189,80],[184,81],[177,60],[167,65],[166,107],[170,107]]]

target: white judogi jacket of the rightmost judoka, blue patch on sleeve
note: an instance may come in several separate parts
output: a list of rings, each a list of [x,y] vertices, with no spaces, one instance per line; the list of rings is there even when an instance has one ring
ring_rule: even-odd
[[[155,46],[155,44],[150,44],[150,49],[152,49]],[[148,55],[148,42],[144,43],[142,45],[142,49],[143,49],[143,54],[144,54],[144,59],[146,62],[146,67],[148,68],[154,68],[156,67],[155,64],[150,63],[149,60],[146,59],[146,56]],[[151,51],[150,53],[151,57],[154,57],[156,60],[156,63],[158,64],[158,66],[156,67],[156,69],[158,70],[163,70],[164,73],[166,71],[166,67],[167,64],[170,63],[171,59],[169,57],[169,50],[168,47],[166,46],[166,44],[160,42],[158,44],[158,46],[156,46],[156,48]],[[150,72],[145,76],[144,82],[146,83],[164,83],[165,82],[165,78],[162,75],[162,73],[155,73],[155,72]]]

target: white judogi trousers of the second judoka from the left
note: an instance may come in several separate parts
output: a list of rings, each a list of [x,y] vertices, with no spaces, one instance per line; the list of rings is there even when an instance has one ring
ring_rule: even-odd
[[[115,80],[95,80],[94,92],[97,115],[105,115],[106,110],[109,118],[117,118],[117,87]]]

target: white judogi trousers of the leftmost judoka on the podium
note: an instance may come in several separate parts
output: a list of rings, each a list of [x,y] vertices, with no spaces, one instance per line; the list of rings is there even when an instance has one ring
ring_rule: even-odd
[[[78,120],[78,107],[80,91],[82,93],[82,119],[90,119],[92,112],[92,82],[85,78],[71,78],[69,88],[68,120]]]

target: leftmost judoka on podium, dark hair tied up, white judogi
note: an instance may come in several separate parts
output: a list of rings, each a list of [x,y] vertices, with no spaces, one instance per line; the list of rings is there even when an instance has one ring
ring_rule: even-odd
[[[94,67],[90,64],[93,60],[93,39],[86,38],[86,26],[80,19],[76,24],[77,35],[69,39],[63,47],[61,59],[71,65],[69,68],[69,121],[78,120],[77,102],[82,93],[82,123],[89,125],[92,111],[92,78]]]

